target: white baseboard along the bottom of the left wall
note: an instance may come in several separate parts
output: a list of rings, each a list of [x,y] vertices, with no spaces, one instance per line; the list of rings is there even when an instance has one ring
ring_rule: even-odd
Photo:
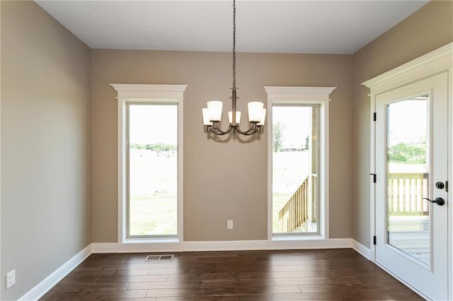
[[[76,266],[81,264],[88,256],[91,255],[91,244],[88,244],[85,249],[74,255],[71,259],[66,261],[62,266],[57,268],[53,273],[47,276],[43,281],[38,283],[34,288],[28,291],[19,300],[38,300],[51,288],[53,288],[64,276],[67,276]]]

